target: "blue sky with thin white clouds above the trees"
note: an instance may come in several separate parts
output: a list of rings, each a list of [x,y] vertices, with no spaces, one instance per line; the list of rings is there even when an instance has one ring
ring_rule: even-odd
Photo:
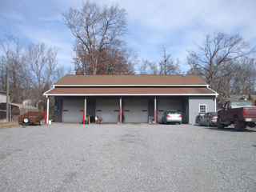
[[[255,0],[96,0],[101,5],[118,2],[128,13],[127,45],[154,62],[158,46],[170,46],[181,68],[188,70],[186,50],[194,50],[206,34],[241,34],[256,45]],[[81,7],[81,0],[0,0],[0,39],[10,32],[30,42],[58,46],[59,64],[72,67],[74,36],[63,24],[62,11]]]

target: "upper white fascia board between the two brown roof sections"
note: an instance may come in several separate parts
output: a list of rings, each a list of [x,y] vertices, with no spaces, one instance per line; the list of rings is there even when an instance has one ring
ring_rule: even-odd
[[[57,86],[206,86],[208,87],[209,85],[54,85],[54,87]]]

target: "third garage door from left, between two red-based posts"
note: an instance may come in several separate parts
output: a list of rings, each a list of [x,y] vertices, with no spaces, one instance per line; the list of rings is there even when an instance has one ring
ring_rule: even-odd
[[[147,99],[124,99],[125,122],[149,122]]]

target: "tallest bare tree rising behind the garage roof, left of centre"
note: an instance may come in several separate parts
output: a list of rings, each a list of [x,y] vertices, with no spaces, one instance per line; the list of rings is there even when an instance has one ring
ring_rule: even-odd
[[[76,51],[80,51],[79,56],[83,56],[82,65],[86,65],[79,66],[78,70],[90,66],[92,74],[99,74],[102,53],[124,45],[122,36],[127,34],[126,10],[120,9],[118,4],[99,6],[87,0],[82,3],[81,9],[70,7],[62,16],[76,37]]]

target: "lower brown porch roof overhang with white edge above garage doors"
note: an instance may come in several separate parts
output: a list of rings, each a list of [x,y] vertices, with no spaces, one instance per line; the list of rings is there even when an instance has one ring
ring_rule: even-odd
[[[47,91],[46,96],[218,96],[207,86],[142,86],[142,87],[81,87],[55,86]]]

